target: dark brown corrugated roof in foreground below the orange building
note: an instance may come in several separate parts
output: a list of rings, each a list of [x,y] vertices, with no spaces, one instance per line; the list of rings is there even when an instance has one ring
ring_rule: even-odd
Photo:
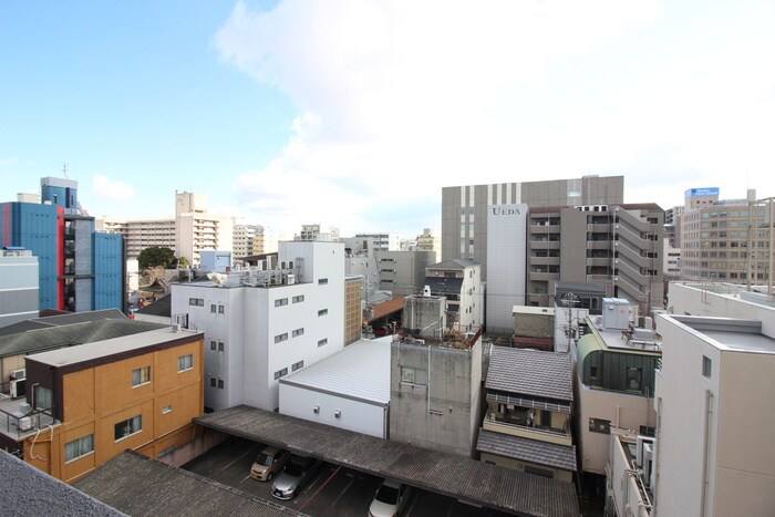
[[[86,474],[74,486],[132,516],[302,515],[132,451]]]

